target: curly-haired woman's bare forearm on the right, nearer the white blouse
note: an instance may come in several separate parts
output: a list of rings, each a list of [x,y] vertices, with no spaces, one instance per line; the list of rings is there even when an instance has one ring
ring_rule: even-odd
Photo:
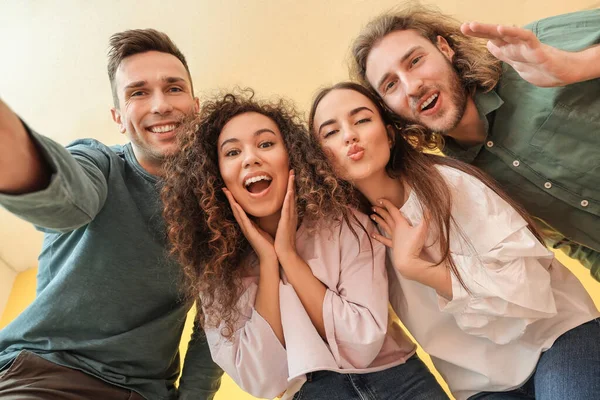
[[[326,338],[323,321],[323,301],[327,288],[312,273],[308,264],[297,254],[280,260],[288,282],[292,285],[310,320],[322,338]]]

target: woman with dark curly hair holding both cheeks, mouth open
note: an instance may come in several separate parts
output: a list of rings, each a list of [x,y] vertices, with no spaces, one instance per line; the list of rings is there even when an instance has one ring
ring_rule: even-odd
[[[388,330],[385,247],[293,109],[242,92],[201,110],[163,200],[215,362],[257,397],[446,399]]]

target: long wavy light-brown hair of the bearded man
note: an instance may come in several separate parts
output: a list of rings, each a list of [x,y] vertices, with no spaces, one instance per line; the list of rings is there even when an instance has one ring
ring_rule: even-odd
[[[354,40],[351,75],[377,94],[366,78],[367,59],[371,50],[392,32],[414,30],[433,44],[437,43],[438,36],[446,39],[454,50],[452,66],[468,95],[473,96],[477,90],[489,92],[500,80],[502,63],[487,50],[485,41],[464,35],[460,25],[458,20],[437,8],[415,2],[386,12],[369,22]],[[404,135],[417,147],[443,148],[442,135],[418,124],[406,124],[395,114],[393,119],[396,124],[404,125]]]

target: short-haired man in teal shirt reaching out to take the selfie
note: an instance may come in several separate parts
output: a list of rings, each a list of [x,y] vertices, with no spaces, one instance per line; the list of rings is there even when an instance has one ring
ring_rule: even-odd
[[[175,387],[191,302],[157,183],[198,111],[185,57],[164,33],[120,32],[108,75],[123,146],[65,149],[0,101],[0,205],[45,233],[37,297],[0,332],[0,399],[210,400],[219,387],[201,332]]]

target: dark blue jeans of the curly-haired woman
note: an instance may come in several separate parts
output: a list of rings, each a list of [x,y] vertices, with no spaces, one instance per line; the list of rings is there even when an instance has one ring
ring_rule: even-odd
[[[367,374],[317,371],[294,400],[448,400],[427,366],[415,354],[404,364]]]

